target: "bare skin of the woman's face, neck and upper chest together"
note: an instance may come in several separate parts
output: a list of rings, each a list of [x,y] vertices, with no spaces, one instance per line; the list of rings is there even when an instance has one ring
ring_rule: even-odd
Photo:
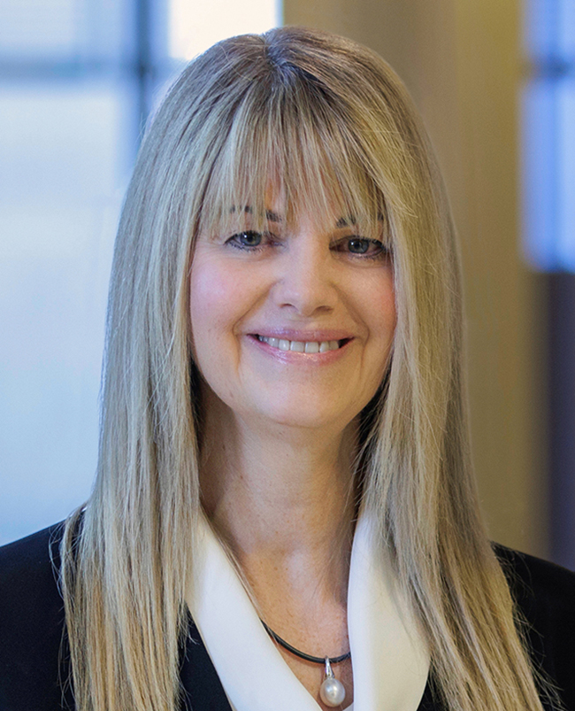
[[[335,656],[349,649],[357,415],[391,351],[393,266],[378,243],[338,226],[337,213],[333,228],[310,215],[288,228],[280,201],[269,209],[279,218],[269,235],[202,234],[196,243],[190,316],[203,376],[203,506],[270,627],[307,653]],[[335,352],[282,353],[255,334],[349,341]],[[322,668],[282,654],[326,709]],[[334,672],[346,707],[351,661]]]

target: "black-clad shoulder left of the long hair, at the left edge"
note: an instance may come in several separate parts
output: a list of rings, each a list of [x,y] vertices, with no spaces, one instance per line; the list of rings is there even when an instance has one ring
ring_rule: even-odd
[[[0,708],[61,707],[65,630],[58,588],[63,524],[0,547]]]

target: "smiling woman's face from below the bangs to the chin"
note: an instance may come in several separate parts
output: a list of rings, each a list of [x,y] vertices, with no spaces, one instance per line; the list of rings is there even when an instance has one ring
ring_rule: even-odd
[[[288,229],[201,234],[190,275],[194,359],[245,421],[340,428],[378,389],[395,329],[393,267],[383,244],[334,214]]]

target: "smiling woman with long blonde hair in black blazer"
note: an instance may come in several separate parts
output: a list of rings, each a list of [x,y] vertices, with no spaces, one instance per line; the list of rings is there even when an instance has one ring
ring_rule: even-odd
[[[293,27],[197,58],[119,226],[94,492],[4,549],[0,706],[574,708],[575,576],[487,541],[461,359],[389,67]]]

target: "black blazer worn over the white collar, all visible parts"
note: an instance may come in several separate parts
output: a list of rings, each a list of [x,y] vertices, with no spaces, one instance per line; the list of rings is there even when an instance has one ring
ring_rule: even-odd
[[[0,711],[73,709],[58,591],[62,526],[0,548]],[[567,711],[575,711],[575,574],[508,548],[495,552],[518,606],[531,625],[535,663],[555,680]],[[231,711],[219,676],[190,620],[181,653],[187,711]],[[418,711],[441,711],[428,683]],[[295,710],[296,711],[296,710]]]

